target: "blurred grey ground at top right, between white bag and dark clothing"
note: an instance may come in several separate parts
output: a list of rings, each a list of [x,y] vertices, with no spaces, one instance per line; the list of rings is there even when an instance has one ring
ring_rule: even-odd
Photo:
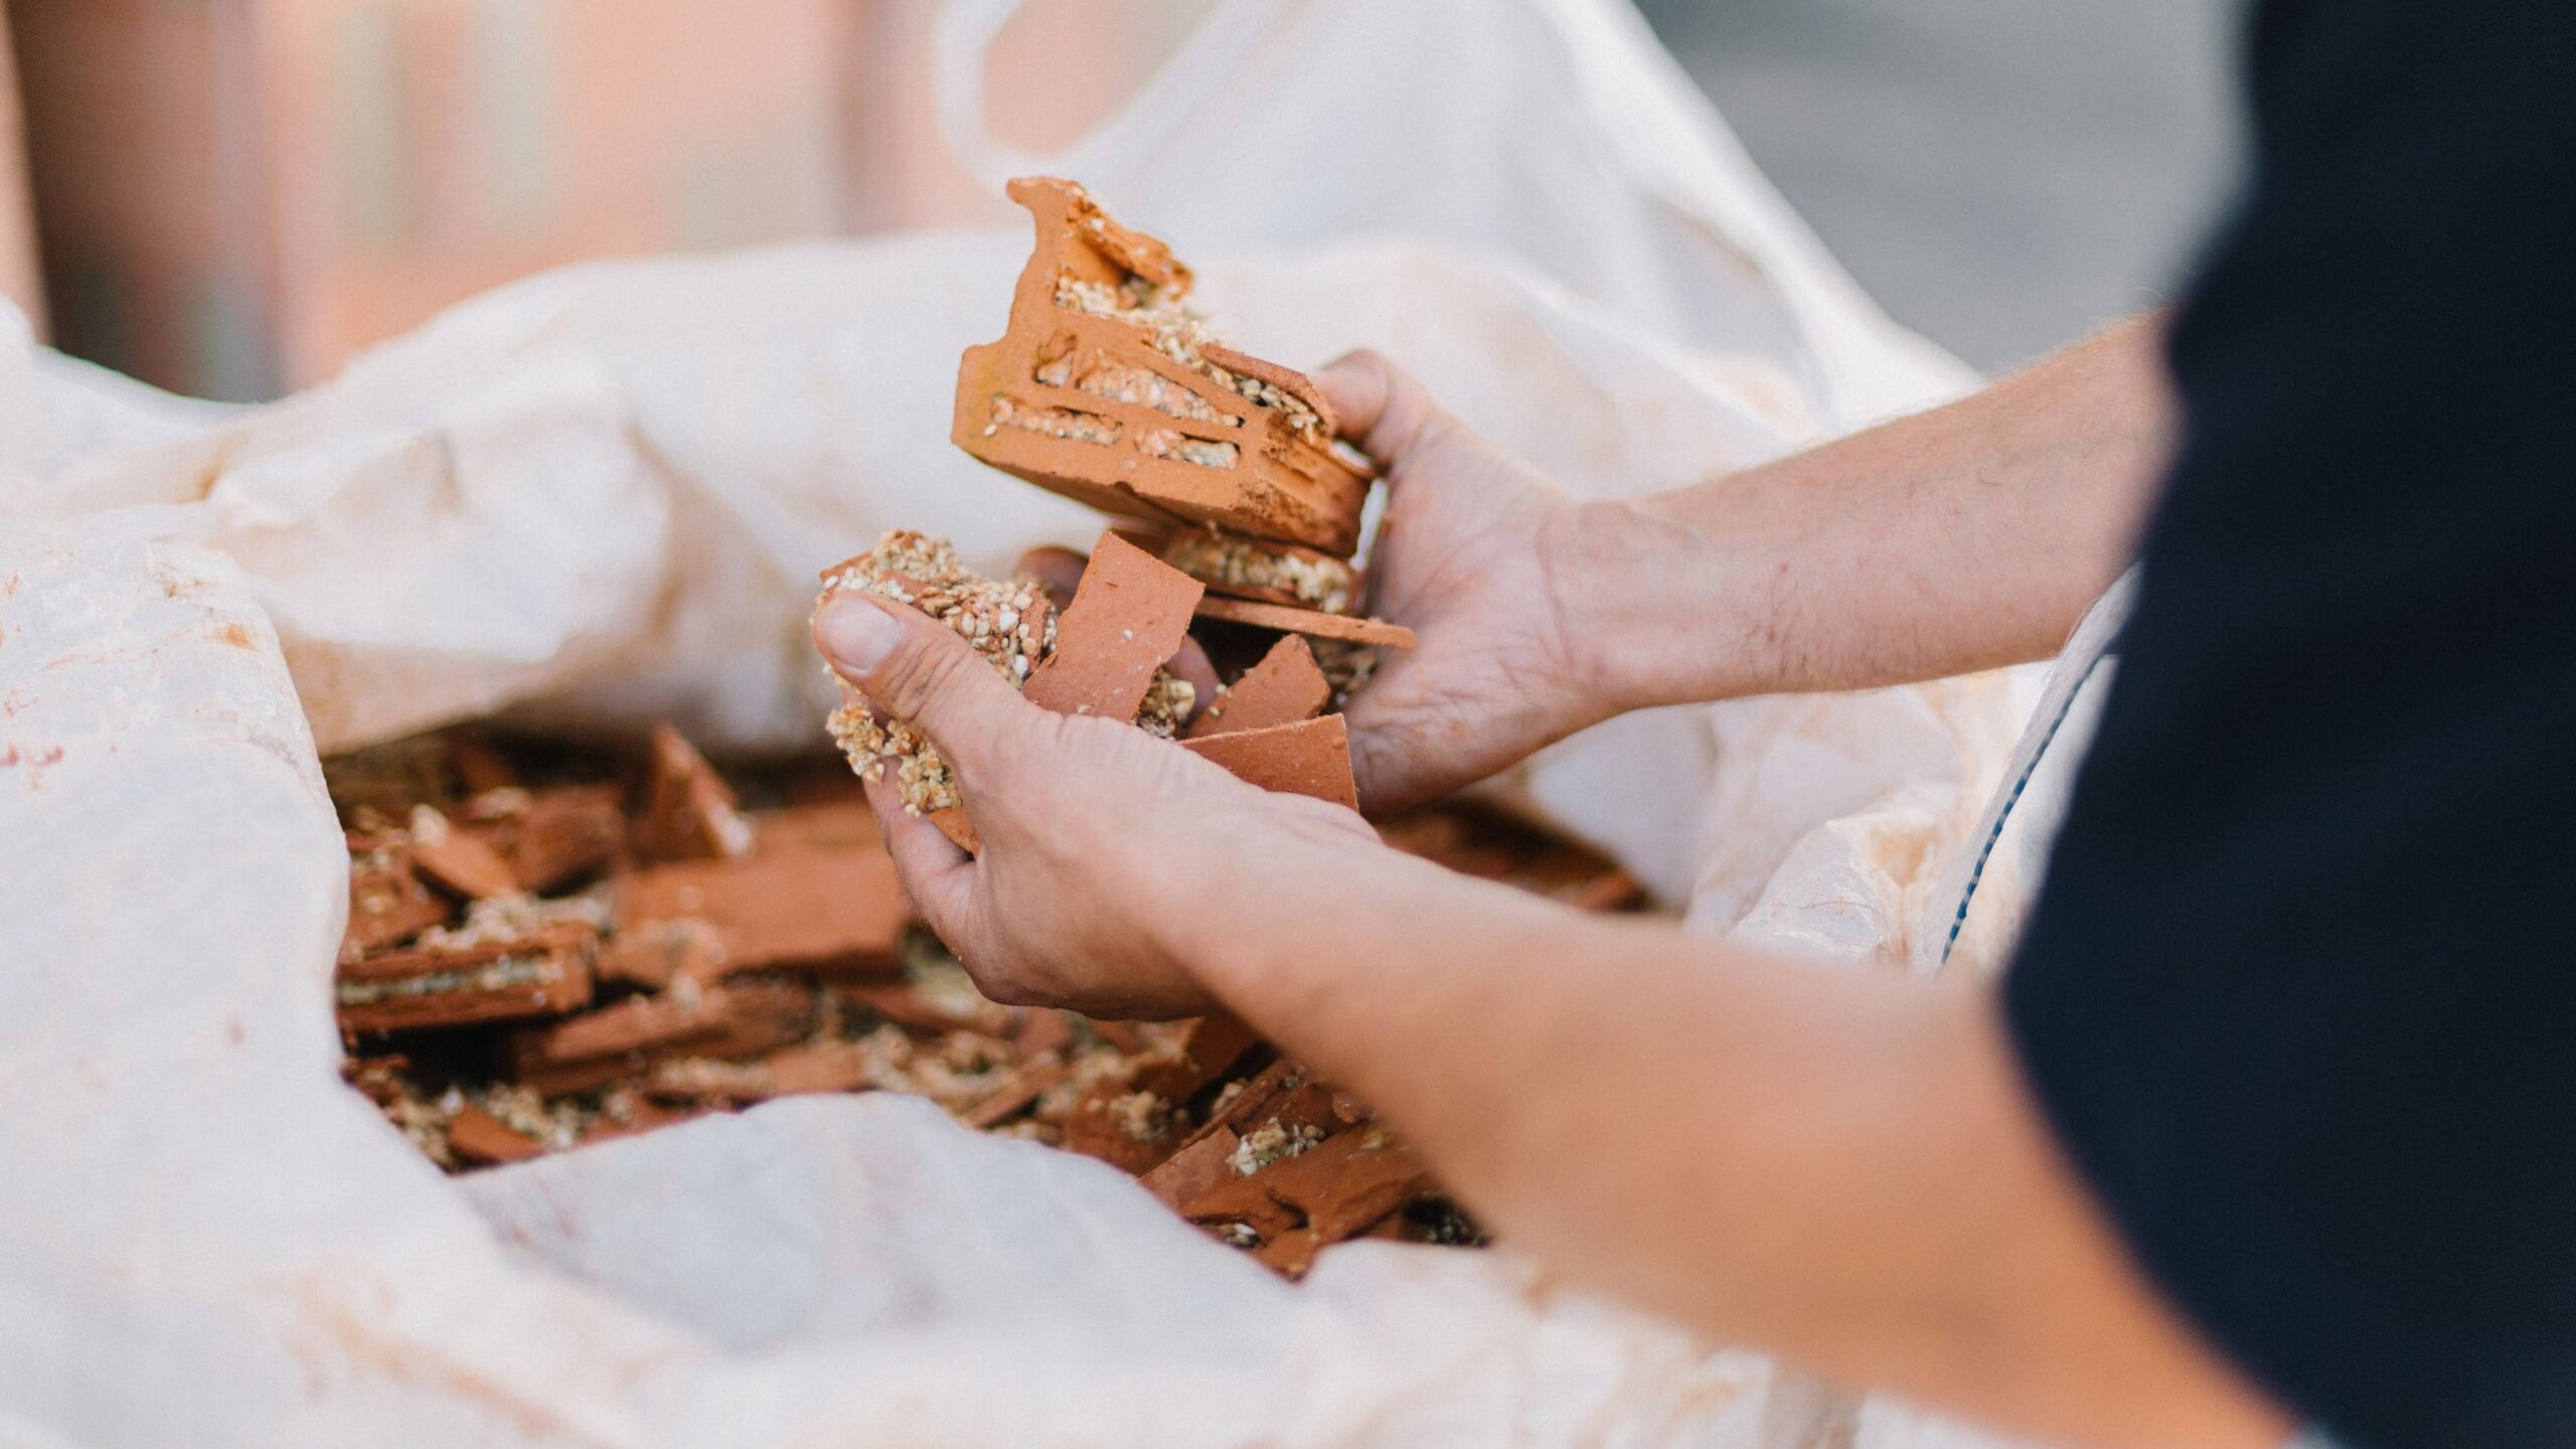
[[[2166,297],[2223,206],[2241,0],[1638,0],[1901,322],[1984,369]]]

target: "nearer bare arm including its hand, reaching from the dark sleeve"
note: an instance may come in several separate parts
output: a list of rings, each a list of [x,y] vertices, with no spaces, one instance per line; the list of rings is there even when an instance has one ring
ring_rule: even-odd
[[[2130,1269],[1986,990],[1450,877],[1347,810],[1043,714],[902,608],[848,598],[817,639],[958,773],[979,859],[871,797],[994,998],[1213,995],[1373,1098],[1504,1238],[1726,1341],[2092,1444],[2285,1434]]]

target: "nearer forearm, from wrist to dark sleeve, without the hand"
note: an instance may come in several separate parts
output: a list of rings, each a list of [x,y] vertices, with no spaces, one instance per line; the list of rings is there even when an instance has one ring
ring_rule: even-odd
[[[1984,993],[1587,920],[1412,861],[1195,944],[1502,1235],[1726,1341],[2035,1434],[2277,1431],[2136,1279]]]

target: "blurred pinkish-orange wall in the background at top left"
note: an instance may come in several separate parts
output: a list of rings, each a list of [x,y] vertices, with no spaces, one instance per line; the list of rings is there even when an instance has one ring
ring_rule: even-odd
[[[837,229],[850,0],[10,0],[62,345],[270,397],[567,260]]]

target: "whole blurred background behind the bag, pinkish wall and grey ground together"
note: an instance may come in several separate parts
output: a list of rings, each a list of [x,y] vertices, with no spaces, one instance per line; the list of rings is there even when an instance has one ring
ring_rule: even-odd
[[[0,5],[0,289],[178,392],[276,397],[572,260],[1012,217],[940,160],[943,0]],[[1064,147],[1216,5],[1028,0],[994,134]],[[1860,284],[1981,369],[2164,297],[2228,183],[2236,0],[1641,8]]]

